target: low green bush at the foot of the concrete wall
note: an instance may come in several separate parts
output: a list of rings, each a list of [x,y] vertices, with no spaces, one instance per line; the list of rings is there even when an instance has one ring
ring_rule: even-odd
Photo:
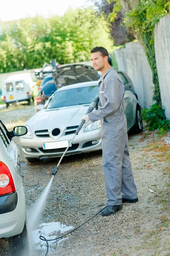
[[[147,122],[147,125],[149,125],[150,131],[158,129],[159,134],[170,131],[170,119],[166,119],[164,107],[158,103],[151,105],[150,108],[144,108],[142,110],[142,117]]]

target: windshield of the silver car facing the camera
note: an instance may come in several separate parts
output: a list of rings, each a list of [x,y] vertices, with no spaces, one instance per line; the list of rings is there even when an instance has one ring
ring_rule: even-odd
[[[61,108],[72,105],[88,104],[98,96],[98,86],[77,87],[69,90],[57,91],[45,108]]]

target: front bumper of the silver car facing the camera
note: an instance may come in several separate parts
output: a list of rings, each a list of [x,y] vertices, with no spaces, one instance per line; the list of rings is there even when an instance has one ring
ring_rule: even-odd
[[[72,135],[72,137],[74,134]],[[71,136],[64,136],[60,137],[59,140],[71,140]],[[96,144],[93,144],[94,141],[97,141]],[[20,145],[23,151],[24,157],[27,158],[40,158],[40,157],[60,157],[65,151],[65,148],[58,148],[58,149],[52,149],[52,150],[44,150],[42,148],[42,143],[45,142],[51,142],[51,140],[45,141],[42,140],[25,140],[22,139],[20,141]],[[54,140],[53,140],[54,142]],[[93,142],[93,143],[92,143]],[[26,151],[26,148],[31,148],[32,152]],[[68,151],[65,155],[71,155],[71,154],[79,154],[79,153],[88,153],[91,151],[97,151],[102,149],[102,143],[101,143],[101,133],[100,132],[93,132],[89,133],[88,136],[85,133],[84,136],[77,136],[75,137],[72,147],[68,148]]]

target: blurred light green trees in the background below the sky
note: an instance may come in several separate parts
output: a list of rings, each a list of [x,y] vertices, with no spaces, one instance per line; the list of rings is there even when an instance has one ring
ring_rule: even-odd
[[[68,9],[63,17],[37,16],[2,25],[0,73],[42,67],[54,58],[60,64],[87,61],[96,45],[109,51],[113,45],[107,21],[92,8]]]

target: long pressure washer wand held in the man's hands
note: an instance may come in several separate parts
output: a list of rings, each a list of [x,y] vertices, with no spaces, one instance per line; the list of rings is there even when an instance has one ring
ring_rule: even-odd
[[[87,115],[87,114],[91,113],[91,112],[94,110],[94,108],[96,108],[98,102],[99,102],[99,96],[97,96],[97,97],[95,97],[95,98],[93,99],[93,101],[91,102],[91,105],[88,107],[88,111],[87,111],[85,114]],[[81,128],[83,127],[84,123],[85,123],[85,119],[83,119],[83,120],[81,121],[81,123],[79,124],[79,127],[77,128],[77,130],[76,130],[75,133],[74,133],[73,139],[70,141],[70,143],[68,144],[68,147],[65,149],[64,153],[62,154],[62,157],[60,158],[60,160],[59,160],[57,166],[54,167],[54,170],[53,170],[53,172],[52,172],[52,175],[54,175],[54,176],[56,175],[56,173],[57,173],[57,171],[58,171],[59,164],[60,164],[61,161],[62,161],[62,158],[65,156],[65,153],[68,151],[69,146],[71,145],[71,143],[72,143],[72,141],[74,140],[74,138],[76,137],[76,135],[78,135],[78,133],[79,133],[79,131],[81,130]]]

